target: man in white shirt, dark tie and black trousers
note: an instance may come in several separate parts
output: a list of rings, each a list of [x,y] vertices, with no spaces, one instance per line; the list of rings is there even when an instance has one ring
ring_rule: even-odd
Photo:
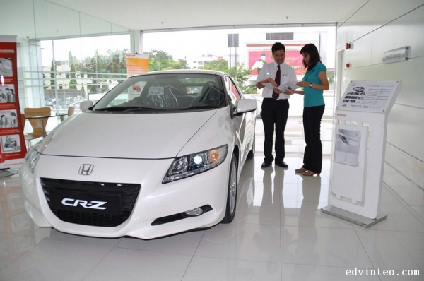
[[[261,117],[264,122],[264,133],[265,133],[265,142],[264,142],[264,163],[262,167],[266,168],[271,165],[274,160],[272,155],[273,147],[273,133],[274,126],[276,131],[276,165],[287,168],[288,165],[284,162],[285,157],[285,148],[284,148],[284,130],[285,124],[287,124],[288,118],[288,98],[289,95],[285,95],[283,91],[278,90],[277,88],[266,87],[266,84],[271,83],[273,86],[284,85],[286,83],[295,83],[296,73],[295,70],[284,64],[285,60],[285,47],[281,43],[275,43],[271,47],[272,55],[274,61],[269,64],[265,64],[261,68],[261,72],[257,77],[257,88],[264,89],[262,90],[262,97],[264,100],[262,102],[262,112]],[[277,75],[279,71],[279,75]]]

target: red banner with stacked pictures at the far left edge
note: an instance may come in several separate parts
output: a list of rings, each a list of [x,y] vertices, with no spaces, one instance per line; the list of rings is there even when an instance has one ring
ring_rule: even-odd
[[[26,153],[17,69],[16,36],[0,35],[0,169],[19,168]]]

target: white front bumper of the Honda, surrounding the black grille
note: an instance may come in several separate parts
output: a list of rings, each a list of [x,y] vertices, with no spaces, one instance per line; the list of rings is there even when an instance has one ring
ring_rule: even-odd
[[[228,157],[218,167],[193,177],[162,184],[172,159],[131,160],[40,155],[32,174],[24,164],[21,170],[25,208],[39,227],[93,237],[131,236],[153,239],[218,224],[225,215],[228,190]],[[93,165],[90,175],[78,174],[81,165]],[[80,225],[60,220],[47,203],[40,179],[75,182],[139,184],[141,188],[128,219],[114,227]],[[47,196],[48,198],[48,196]],[[159,217],[179,214],[204,205],[212,210],[198,217],[151,225]]]

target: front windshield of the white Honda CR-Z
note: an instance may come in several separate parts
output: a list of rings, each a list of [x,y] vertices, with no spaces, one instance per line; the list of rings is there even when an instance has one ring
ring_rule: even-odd
[[[95,112],[167,112],[225,107],[221,76],[148,73],[133,76],[100,99]]]

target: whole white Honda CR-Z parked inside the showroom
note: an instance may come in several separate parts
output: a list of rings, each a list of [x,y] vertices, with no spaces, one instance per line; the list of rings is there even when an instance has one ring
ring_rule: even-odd
[[[230,223],[254,157],[256,109],[222,72],[127,78],[30,148],[25,208],[38,227],[91,237],[153,239]]]

